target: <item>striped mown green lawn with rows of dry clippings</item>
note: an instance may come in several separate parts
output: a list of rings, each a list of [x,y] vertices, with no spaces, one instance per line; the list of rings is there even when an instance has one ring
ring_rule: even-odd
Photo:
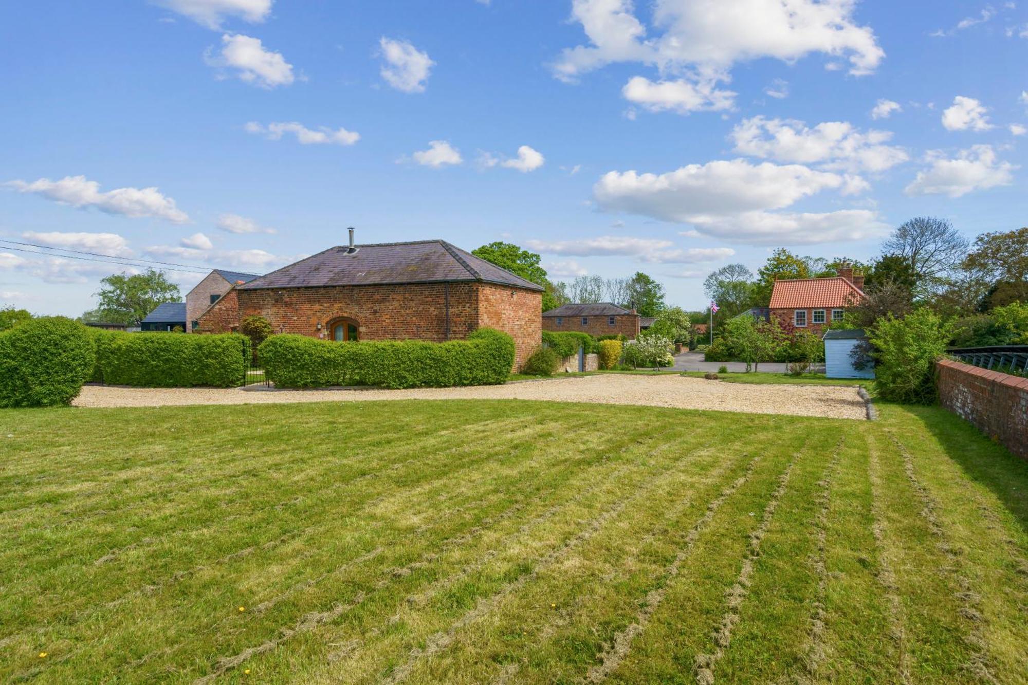
[[[1024,682],[1028,463],[879,408],[2,411],[0,682]]]

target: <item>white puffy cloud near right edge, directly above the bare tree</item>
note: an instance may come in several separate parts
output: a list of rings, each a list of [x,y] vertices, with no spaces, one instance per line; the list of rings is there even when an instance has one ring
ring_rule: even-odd
[[[999,161],[991,145],[974,145],[960,150],[955,159],[942,152],[929,152],[928,169],[920,171],[904,192],[908,195],[946,194],[960,197],[974,190],[985,190],[1014,182],[1015,165]]]

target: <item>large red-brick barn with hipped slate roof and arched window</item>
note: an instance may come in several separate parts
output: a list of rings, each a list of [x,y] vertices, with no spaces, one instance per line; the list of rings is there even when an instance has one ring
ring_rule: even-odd
[[[277,333],[441,342],[488,326],[514,338],[520,368],[542,340],[542,292],[445,241],[339,246],[233,285],[196,328],[226,332],[262,316]]]

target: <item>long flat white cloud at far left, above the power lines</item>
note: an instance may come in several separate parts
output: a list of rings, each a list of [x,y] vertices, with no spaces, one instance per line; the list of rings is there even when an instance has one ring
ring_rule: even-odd
[[[156,217],[172,223],[186,223],[189,216],[175,206],[175,201],[162,195],[156,187],[115,188],[100,191],[100,184],[84,176],[66,176],[58,181],[41,178],[28,183],[16,180],[7,183],[21,192],[34,192],[63,205],[95,207],[107,214],[130,217]]]

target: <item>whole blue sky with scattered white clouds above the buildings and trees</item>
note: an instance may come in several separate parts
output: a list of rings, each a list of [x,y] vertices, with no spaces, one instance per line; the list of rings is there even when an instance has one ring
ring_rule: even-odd
[[[775,247],[1025,225],[1026,65],[1002,1],[4,3],[0,241],[264,273],[350,225],[505,240],[701,309]],[[10,247],[38,313],[119,271]]]

